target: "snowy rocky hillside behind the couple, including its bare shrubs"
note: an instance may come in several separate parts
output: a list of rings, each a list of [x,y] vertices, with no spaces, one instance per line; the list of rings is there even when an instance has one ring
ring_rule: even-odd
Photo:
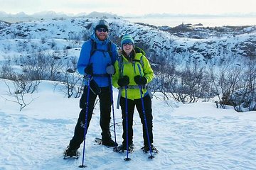
[[[67,75],[67,72],[65,73],[67,70],[75,71],[80,47],[93,33],[97,20],[97,18],[86,17],[53,18],[1,24],[0,64],[5,69],[8,68],[5,66],[9,66],[9,69],[0,72],[1,77],[9,79],[6,72],[11,75],[13,70],[15,73],[28,72],[35,66],[33,64],[35,61],[30,61],[30,68],[26,68],[24,67],[24,64],[28,64],[26,60],[43,56],[43,58],[48,57],[48,60],[54,59],[53,63],[61,61],[65,64],[66,62],[66,68],[58,68],[55,75],[48,73],[51,75],[37,78],[63,81],[55,78],[60,77],[60,72],[64,76],[63,74]],[[227,99],[224,103],[238,106],[237,111],[255,111],[255,99],[251,98],[255,94],[255,86],[250,85],[255,82],[255,78],[252,76],[251,79],[244,79],[243,77],[250,77],[249,74],[253,75],[252,70],[255,69],[252,68],[255,66],[252,63],[256,59],[256,26],[194,28],[182,24],[176,28],[163,29],[143,23],[131,23],[116,17],[107,18],[107,21],[110,23],[110,38],[113,42],[119,45],[122,35],[130,34],[135,40],[135,45],[146,51],[146,57],[154,66],[156,74],[155,84],[153,82],[154,86],[151,87],[154,91],[174,92],[181,95],[176,100],[184,102],[191,101],[191,96],[192,101],[196,101],[198,98],[208,100],[223,94]],[[45,62],[43,68],[48,67],[50,70],[51,66],[50,62]],[[197,70],[186,77],[191,72],[186,70],[188,68]],[[46,73],[46,70],[39,69],[40,67],[34,68],[33,72]],[[233,72],[238,72],[238,77],[235,77]],[[203,81],[191,83],[197,80],[193,76],[198,73],[203,77]],[[163,79],[162,75],[169,77]],[[188,81],[189,78],[191,80]],[[222,84],[222,78],[227,79],[228,83]],[[239,79],[239,84],[233,84],[238,82],[232,81],[233,78]],[[187,81],[186,84],[181,84],[185,81]],[[188,86],[190,88],[187,88]],[[199,88],[195,89],[196,86]],[[240,91],[242,88],[245,90]],[[246,89],[250,89],[251,92]],[[186,91],[185,99],[181,99],[183,91]],[[232,98],[231,94],[234,93],[240,95],[236,94],[235,98]],[[217,100],[220,103],[224,99],[220,96]]]

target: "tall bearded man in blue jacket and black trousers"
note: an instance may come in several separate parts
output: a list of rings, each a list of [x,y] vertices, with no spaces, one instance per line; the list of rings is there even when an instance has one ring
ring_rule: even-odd
[[[78,72],[85,75],[85,88],[80,99],[80,115],[75,126],[75,132],[70,144],[65,150],[65,156],[75,156],[78,148],[83,142],[85,130],[85,113],[87,99],[87,84],[90,78],[89,108],[87,113],[87,128],[92,118],[92,111],[97,96],[100,98],[100,127],[102,129],[102,145],[109,147],[117,146],[111,139],[110,134],[110,113],[111,93],[110,75],[114,74],[113,64],[117,60],[117,45],[110,41],[109,24],[105,20],[97,22],[94,33],[83,45],[78,60]]]

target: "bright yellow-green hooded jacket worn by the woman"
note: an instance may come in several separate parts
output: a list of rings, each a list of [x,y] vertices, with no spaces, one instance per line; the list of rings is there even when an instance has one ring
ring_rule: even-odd
[[[137,88],[128,88],[127,89],[127,98],[134,100],[134,99],[138,99],[141,98],[141,94],[138,88],[138,85],[135,83],[134,81],[134,77],[137,75],[140,75],[139,72],[139,67],[141,69],[141,74],[142,77],[146,78],[147,83],[149,83],[153,77],[154,77],[154,72],[153,69],[151,69],[151,66],[149,64],[149,60],[146,59],[146,57],[144,55],[142,55],[142,53],[136,53],[134,60],[132,62],[128,61],[126,57],[124,57],[123,55],[120,56],[122,58],[120,58],[119,60],[117,60],[114,63],[114,69],[115,69],[115,73],[112,77],[112,84],[114,87],[119,88],[120,86],[117,84],[117,81],[119,78],[123,77],[123,76],[127,76],[129,77],[129,87],[132,86],[137,86]],[[142,63],[141,64],[141,60]],[[122,65],[119,64],[122,63]],[[120,68],[119,68],[120,65]],[[142,89],[142,95],[146,95],[147,91],[146,89]],[[125,89],[122,89],[122,97],[125,98]]]

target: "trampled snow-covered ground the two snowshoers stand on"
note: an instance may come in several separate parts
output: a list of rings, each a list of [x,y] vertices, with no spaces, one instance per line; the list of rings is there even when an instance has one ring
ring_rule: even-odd
[[[6,101],[8,88],[0,79],[0,169],[79,169],[79,159],[63,159],[63,150],[73,137],[80,112],[79,98],[65,98],[52,82],[43,81],[31,105],[19,111]],[[161,98],[161,94],[156,94]],[[2,98],[4,97],[4,98]],[[114,89],[114,104],[117,89]],[[135,151],[126,154],[95,145],[100,137],[99,104],[86,137],[85,169],[256,169],[256,112],[237,113],[218,109],[215,103],[183,105],[153,99],[154,145],[159,154],[148,159],[142,147],[142,125],[134,114]],[[114,107],[115,108],[115,107]],[[121,111],[115,109],[119,123]],[[117,142],[122,127],[116,126]],[[114,132],[112,132],[114,137]],[[114,139],[114,138],[113,138]],[[79,149],[82,153],[82,145]]]

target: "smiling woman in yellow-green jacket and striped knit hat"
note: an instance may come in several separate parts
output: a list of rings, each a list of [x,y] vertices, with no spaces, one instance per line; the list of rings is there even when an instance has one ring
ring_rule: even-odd
[[[124,35],[121,40],[122,56],[119,60],[114,63],[115,74],[112,77],[113,86],[119,88],[120,106],[122,109],[122,126],[123,126],[123,142],[116,148],[117,152],[124,152],[127,150],[132,152],[134,149],[133,145],[133,115],[134,107],[136,106],[139,112],[139,117],[143,125],[143,139],[144,152],[149,151],[149,143],[151,150],[156,151],[156,148],[152,145],[153,143],[153,116],[151,108],[151,97],[149,92],[144,88],[145,84],[149,83],[154,77],[154,72],[151,69],[149,61],[142,53],[136,53],[134,50],[134,40],[130,35]],[[140,87],[142,91],[140,91]],[[142,98],[144,101],[144,113],[146,115],[146,123],[144,122],[144,113],[142,109]],[[127,100],[127,102],[126,102]],[[126,108],[127,103],[127,108]],[[126,110],[127,109],[127,110]],[[126,131],[126,112],[128,113],[128,137]],[[149,142],[146,133],[146,126],[149,134]],[[128,141],[127,141],[128,139]]]

